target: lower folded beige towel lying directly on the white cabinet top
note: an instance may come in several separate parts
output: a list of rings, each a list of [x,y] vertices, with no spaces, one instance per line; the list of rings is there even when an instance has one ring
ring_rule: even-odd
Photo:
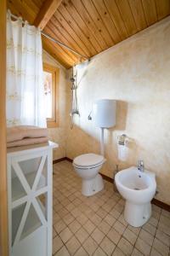
[[[35,138],[25,138],[23,140],[7,143],[7,148],[34,145],[39,143],[47,143],[48,137],[35,137]]]

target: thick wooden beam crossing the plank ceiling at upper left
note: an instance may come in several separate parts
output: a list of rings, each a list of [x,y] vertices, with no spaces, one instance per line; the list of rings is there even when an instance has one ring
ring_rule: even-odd
[[[48,21],[54,15],[61,2],[62,0],[44,1],[42,8],[39,10],[37,17],[34,20],[34,26],[37,26],[42,30],[48,24]]]

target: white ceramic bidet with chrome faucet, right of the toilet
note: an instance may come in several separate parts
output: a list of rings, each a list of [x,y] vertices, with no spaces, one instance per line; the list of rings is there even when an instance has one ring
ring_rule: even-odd
[[[133,227],[140,227],[151,215],[150,201],[156,194],[156,176],[130,167],[116,173],[116,188],[126,200],[124,218]]]

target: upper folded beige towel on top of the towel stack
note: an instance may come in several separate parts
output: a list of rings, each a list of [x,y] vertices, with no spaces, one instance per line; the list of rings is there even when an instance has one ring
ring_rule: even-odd
[[[7,143],[34,137],[48,137],[48,129],[33,125],[19,125],[7,128]]]

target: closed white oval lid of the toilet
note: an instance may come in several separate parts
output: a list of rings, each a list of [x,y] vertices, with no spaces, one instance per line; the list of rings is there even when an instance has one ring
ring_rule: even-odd
[[[104,160],[104,156],[100,154],[81,154],[77,156],[73,163],[77,166],[95,166]]]

